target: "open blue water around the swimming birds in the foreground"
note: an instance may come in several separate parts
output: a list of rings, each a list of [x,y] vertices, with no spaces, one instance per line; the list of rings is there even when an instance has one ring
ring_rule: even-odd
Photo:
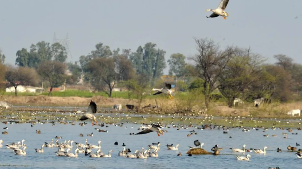
[[[223,130],[198,130],[196,128],[188,128],[176,130],[176,128],[165,128],[168,132],[164,133],[160,137],[155,132],[144,135],[129,135],[129,133],[137,133],[138,124],[124,124],[123,127],[116,127],[114,125],[108,125],[109,128],[101,126],[93,126],[88,122],[86,126],[71,124],[36,124],[31,127],[31,124],[0,124],[1,132],[8,131],[7,135],[1,134],[0,139],[4,141],[2,145],[9,144],[11,142],[17,142],[18,140],[26,140],[24,143],[27,146],[26,156],[14,155],[14,153],[7,149],[5,146],[0,148],[0,165],[1,168],[15,168],[15,167],[3,167],[2,165],[28,165],[27,167],[18,168],[106,168],[106,169],[132,169],[132,168],[144,168],[144,169],[176,169],[176,168],[268,168],[279,166],[283,168],[298,169],[300,167],[301,159],[298,159],[293,152],[276,152],[276,149],[280,146],[282,150],[287,150],[287,146],[295,146],[296,142],[301,142],[302,137],[300,131],[293,130],[292,133],[298,133],[298,135],[292,135],[291,132],[288,135],[288,139],[282,139],[283,130],[268,130],[265,133],[262,130],[250,132],[242,132],[240,129],[232,129],[228,131],[228,134],[223,134]],[[127,129],[125,128],[127,126]],[[133,128],[131,128],[133,126]],[[2,128],[8,127],[8,130]],[[98,132],[94,128],[102,130],[108,130],[108,133]],[[195,129],[198,132],[197,135],[191,135],[187,137],[189,131]],[[36,130],[41,130],[42,134],[36,134]],[[87,134],[93,132],[93,137],[87,137]],[[82,133],[84,137],[78,135]],[[263,137],[263,134],[269,134],[269,137]],[[277,134],[278,137],[271,137],[272,134]],[[88,139],[88,143],[97,145],[97,141],[101,140],[101,150],[104,153],[108,153],[109,149],[114,150],[111,158],[90,158],[84,154],[79,154],[78,158],[57,157],[55,151],[57,148],[44,148],[44,153],[36,153],[34,148],[41,148],[41,145],[46,142],[50,142],[51,139],[56,140],[55,136],[62,136],[63,139],[58,139],[59,142],[64,140],[73,140],[79,143],[85,143],[85,139]],[[232,136],[232,138],[229,138]],[[222,147],[220,151],[221,155],[193,155],[187,156],[186,152],[189,150],[188,146],[194,146],[193,141],[199,140],[205,145],[204,149],[210,151],[210,149],[218,144],[218,147]],[[118,141],[118,146],[114,145],[114,142]],[[122,150],[123,143],[126,144],[126,148],[130,148],[133,153],[135,149],[145,149],[147,145],[152,143],[161,143],[159,157],[148,159],[132,159],[118,156],[118,150]],[[176,146],[179,144],[178,151],[167,150],[165,145],[171,144]],[[242,155],[242,153],[232,153],[229,148],[242,148],[242,145],[246,144],[246,149],[249,148],[261,148],[268,147],[266,155],[255,154],[252,155],[251,161],[236,161],[234,155]],[[74,153],[75,144],[72,152]],[[299,146],[297,147],[299,149]],[[302,147],[301,147],[302,148]],[[92,149],[95,153],[96,149]],[[177,156],[178,152],[181,152],[183,156]],[[228,155],[223,155],[228,154]],[[233,154],[233,155],[230,155]],[[247,153],[246,153],[247,154]]]

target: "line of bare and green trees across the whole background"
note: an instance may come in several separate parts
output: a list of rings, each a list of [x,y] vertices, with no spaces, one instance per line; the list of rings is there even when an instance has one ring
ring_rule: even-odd
[[[229,107],[237,97],[246,101],[261,97],[280,102],[300,100],[302,65],[294,63],[291,57],[278,54],[274,56],[276,62],[268,64],[265,57],[251,52],[250,48],[227,46],[221,49],[212,39],[194,40],[196,54],[187,58],[193,64],[187,63],[180,53],[172,54],[166,61],[166,52],[151,42],[134,52],[112,50],[98,43],[89,54],[80,56],[79,61],[66,63],[67,52],[63,45],[40,41],[32,44],[29,51],[22,48],[16,52],[17,67],[5,66],[5,56],[0,52],[0,79],[15,88],[48,81],[51,94],[52,89],[64,81],[76,84],[83,78],[85,83],[109,97],[118,86],[126,87],[141,100],[146,88],[162,87],[165,81],[160,77],[168,64],[169,75],[175,75],[172,83],[177,84],[177,89],[201,90],[207,108],[215,91],[219,91]],[[67,69],[72,75],[66,75]]]

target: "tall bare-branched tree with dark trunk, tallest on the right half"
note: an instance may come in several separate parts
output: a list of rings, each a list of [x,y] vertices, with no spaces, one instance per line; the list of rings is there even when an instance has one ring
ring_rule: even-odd
[[[194,38],[198,54],[191,57],[195,62],[198,77],[204,80],[204,98],[207,109],[209,108],[210,94],[217,89],[217,78],[223,73],[227,63],[233,57],[233,47],[219,50],[219,45],[213,40]]]

